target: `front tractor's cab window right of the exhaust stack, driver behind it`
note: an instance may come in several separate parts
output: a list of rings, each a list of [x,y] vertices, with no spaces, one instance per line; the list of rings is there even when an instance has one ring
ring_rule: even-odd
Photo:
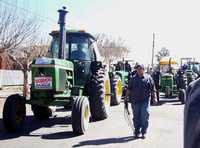
[[[71,60],[94,60],[93,49],[90,46],[88,37],[72,36],[69,43]]]

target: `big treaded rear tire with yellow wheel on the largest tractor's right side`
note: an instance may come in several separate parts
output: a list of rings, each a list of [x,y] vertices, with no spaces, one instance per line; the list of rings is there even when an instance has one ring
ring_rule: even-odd
[[[89,101],[94,120],[108,117],[110,107],[110,80],[104,70],[93,73],[89,82]]]

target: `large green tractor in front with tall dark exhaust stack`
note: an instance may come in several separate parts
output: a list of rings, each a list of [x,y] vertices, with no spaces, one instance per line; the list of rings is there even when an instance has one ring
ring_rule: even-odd
[[[30,98],[14,94],[6,99],[3,123],[9,132],[23,129],[26,104],[37,119],[51,117],[50,106],[71,107],[75,134],[85,133],[90,117],[96,121],[108,117],[110,79],[96,40],[82,30],[66,31],[67,11],[63,7],[58,12],[60,31],[50,33],[50,57],[38,58],[31,65]]]

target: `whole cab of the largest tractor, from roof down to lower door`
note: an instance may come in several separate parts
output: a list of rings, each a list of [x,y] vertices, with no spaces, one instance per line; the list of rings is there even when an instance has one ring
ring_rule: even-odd
[[[59,56],[59,32],[50,33],[53,37],[50,56]],[[83,30],[67,30],[64,58],[74,63],[75,85],[83,86],[91,74],[91,63],[101,61],[95,38]]]

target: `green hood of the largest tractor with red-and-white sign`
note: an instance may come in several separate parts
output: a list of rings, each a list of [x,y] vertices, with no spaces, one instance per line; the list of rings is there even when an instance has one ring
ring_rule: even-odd
[[[33,61],[31,71],[32,92],[43,90],[48,94],[49,90],[52,90],[56,93],[63,93],[67,91],[69,84],[74,84],[74,64],[65,59],[38,58]],[[38,93],[33,95],[34,93],[32,97],[37,97]]]

